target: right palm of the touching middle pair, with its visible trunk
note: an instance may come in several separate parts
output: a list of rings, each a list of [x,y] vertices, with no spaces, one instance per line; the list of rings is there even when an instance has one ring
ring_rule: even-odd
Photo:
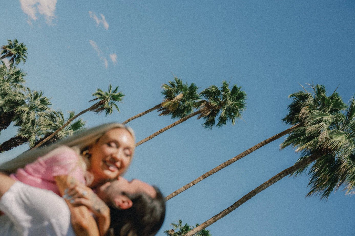
[[[204,89],[201,93],[202,97],[207,100],[202,100],[200,102],[191,103],[187,105],[187,108],[199,107],[200,109],[190,113],[189,115],[184,116],[178,121],[175,121],[171,125],[168,125],[162,129],[159,129],[157,132],[153,133],[151,136],[141,140],[136,143],[136,146],[141,145],[142,143],[147,142],[148,140],[154,138],[160,133],[190,119],[193,116],[199,115],[197,119],[203,117],[205,122],[202,124],[204,128],[211,129],[214,126],[215,119],[219,113],[217,127],[226,125],[227,121],[231,121],[234,125],[235,119],[241,118],[241,112],[245,109],[245,99],[246,94],[244,91],[241,91],[241,87],[233,85],[232,89],[229,89],[229,84],[226,81],[222,82],[222,86],[218,88],[215,85],[212,85]],[[181,114],[183,114],[181,112]]]

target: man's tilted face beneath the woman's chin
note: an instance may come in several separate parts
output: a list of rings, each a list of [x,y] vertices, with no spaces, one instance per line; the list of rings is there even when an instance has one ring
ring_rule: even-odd
[[[128,181],[123,177],[118,177],[117,180],[102,185],[98,189],[97,195],[101,198],[106,196],[113,199],[122,195],[122,192],[125,192],[126,194],[138,194],[144,192],[152,198],[155,198],[155,195],[157,194],[153,186],[142,182],[141,180],[132,179],[131,181]]]

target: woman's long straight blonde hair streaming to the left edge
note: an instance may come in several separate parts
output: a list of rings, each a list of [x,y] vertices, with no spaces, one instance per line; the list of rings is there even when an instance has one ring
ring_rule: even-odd
[[[58,142],[51,144],[49,146],[38,148],[35,150],[29,150],[18,155],[14,159],[7,161],[0,165],[0,172],[13,173],[18,168],[24,167],[26,164],[37,160],[38,157],[44,156],[48,152],[58,148],[59,146],[68,146],[73,150],[81,154],[83,150],[88,148],[93,143],[102,137],[107,131],[114,128],[126,129],[135,139],[133,130],[130,127],[122,125],[121,123],[106,123],[93,128],[86,129],[81,132],[77,132],[70,137],[59,140]]]

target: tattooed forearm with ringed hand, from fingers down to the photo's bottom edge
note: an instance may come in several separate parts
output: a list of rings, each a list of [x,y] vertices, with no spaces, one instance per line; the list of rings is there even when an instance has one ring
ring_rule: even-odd
[[[110,209],[91,188],[75,183],[71,185],[63,196],[73,206],[86,206],[97,217],[100,236],[106,235],[110,227]]]

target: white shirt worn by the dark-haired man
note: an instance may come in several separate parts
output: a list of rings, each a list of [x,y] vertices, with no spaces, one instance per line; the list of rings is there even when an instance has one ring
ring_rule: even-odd
[[[0,211],[23,236],[75,236],[68,206],[52,191],[16,181],[1,197]]]

